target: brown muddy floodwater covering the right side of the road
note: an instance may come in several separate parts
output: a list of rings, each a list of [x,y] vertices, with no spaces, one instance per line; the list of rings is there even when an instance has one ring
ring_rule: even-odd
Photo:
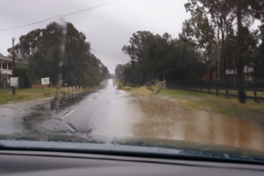
[[[157,97],[136,102],[143,116],[136,136],[228,145],[264,152],[264,120],[193,110]]]

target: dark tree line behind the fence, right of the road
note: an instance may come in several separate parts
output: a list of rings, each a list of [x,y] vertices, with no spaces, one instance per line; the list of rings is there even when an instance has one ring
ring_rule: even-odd
[[[188,0],[191,17],[178,38],[137,31],[122,47],[131,61],[116,65],[124,82],[144,84],[152,79],[201,81],[204,75],[226,81],[226,69],[237,70],[240,102],[245,102],[243,67],[264,78],[264,1]],[[261,25],[251,29],[255,20]]]

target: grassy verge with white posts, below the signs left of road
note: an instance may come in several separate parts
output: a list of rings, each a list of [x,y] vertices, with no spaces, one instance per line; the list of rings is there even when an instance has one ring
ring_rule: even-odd
[[[92,90],[94,88],[88,87],[88,88],[82,88],[82,90],[79,91],[87,91]],[[11,102],[19,102],[19,101],[27,101],[27,100],[34,100],[38,98],[48,98],[53,97],[55,93],[55,88],[36,88],[36,89],[16,89],[16,94],[13,95],[12,89],[9,91],[9,89],[6,89],[6,92],[4,90],[0,90],[0,104],[6,104]],[[63,87],[60,89],[60,92],[62,95],[66,94],[66,88]],[[70,92],[70,88],[67,87],[67,93],[73,93]]]

